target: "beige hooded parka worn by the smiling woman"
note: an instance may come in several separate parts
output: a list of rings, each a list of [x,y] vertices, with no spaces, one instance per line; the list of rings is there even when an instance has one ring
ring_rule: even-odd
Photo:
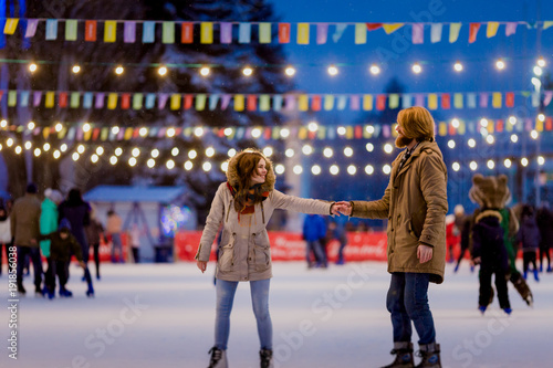
[[[229,162],[227,178],[237,182],[237,162],[242,154]],[[258,281],[272,277],[271,244],[267,224],[275,209],[304,213],[330,214],[332,203],[286,196],[274,189],[274,172],[268,168],[263,189],[269,197],[254,204],[254,212],[241,213],[234,209],[234,199],[227,182],[219,186],[201,234],[196,260],[207,262],[219,225],[222,235],[219,245],[216,277],[226,281]]]

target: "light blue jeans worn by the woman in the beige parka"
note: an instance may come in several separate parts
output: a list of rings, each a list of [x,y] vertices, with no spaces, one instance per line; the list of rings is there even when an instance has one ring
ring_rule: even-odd
[[[269,284],[271,278],[250,281],[253,314],[258,322],[258,335],[262,349],[272,350],[273,325],[269,314]],[[238,281],[217,278],[217,315],[215,320],[215,346],[227,350],[230,333],[230,312],[234,302]]]

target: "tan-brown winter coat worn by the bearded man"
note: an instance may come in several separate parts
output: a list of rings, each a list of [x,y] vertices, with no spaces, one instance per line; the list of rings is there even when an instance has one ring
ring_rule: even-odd
[[[421,141],[401,169],[404,153],[392,164],[384,197],[352,201],[352,217],[388,219],[388,272],[429,273],[444,282],[446,269],[447,168],[436,143]],[[420,263],[419,244],[434,248],[432,259]]]

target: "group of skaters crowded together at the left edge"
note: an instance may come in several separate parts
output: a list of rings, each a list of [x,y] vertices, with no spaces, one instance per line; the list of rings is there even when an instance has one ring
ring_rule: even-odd
[[[136,244],[139,241],[139,230],[137,224],[132,229],[129,241],[133,259],[139,262]],[[3,255],[8,259],[9,246],[14,245],[20,295],[27,294],[23,277],[30,275],[32,265],[35,295],[54,298],[58,280],[59,295],[71,297],[73,294],[66,288],[66,284],[71,259],[74,256],[83,269],[82,281],[88,285],[86,295],[93,296],[92,275],[87,267],[90,249],[93,250],[95,276],[100,281],[101,241],[107,243],[109,240],[113,244],[112,262],[123,263],[122,232],[121,217],[109,210],[104,228],[97,218],[97,211],[83,200],[79,189],[71,189],[64,197],[61,191],[49,188],[41,200],[36,186],[29,183],[25,194],[15,201],[0,199],[0,275]],[[43,257],[45,264],[42,262]]]

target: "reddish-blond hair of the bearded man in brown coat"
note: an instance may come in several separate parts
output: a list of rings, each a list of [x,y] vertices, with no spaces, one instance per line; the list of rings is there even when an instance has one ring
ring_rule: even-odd
[[[434,141],[434,118],[425,107],[413,106],[400,111],[397,114],[397,123],[407,138]]]

